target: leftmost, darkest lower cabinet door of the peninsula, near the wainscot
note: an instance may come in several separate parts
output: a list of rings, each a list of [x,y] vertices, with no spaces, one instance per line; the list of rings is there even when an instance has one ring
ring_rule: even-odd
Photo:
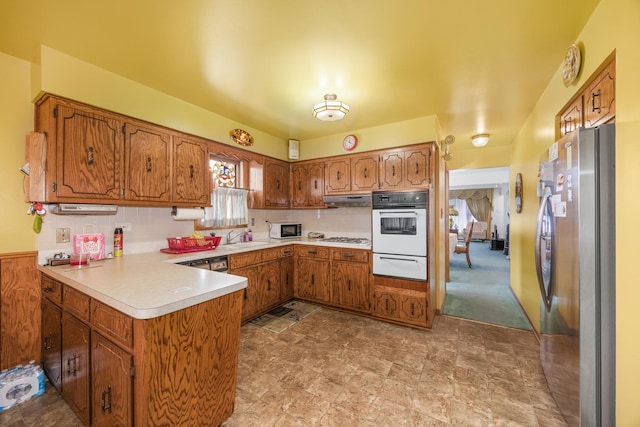
[[[62,310],[42,299],[42,367],[51,384],[62,385]]]

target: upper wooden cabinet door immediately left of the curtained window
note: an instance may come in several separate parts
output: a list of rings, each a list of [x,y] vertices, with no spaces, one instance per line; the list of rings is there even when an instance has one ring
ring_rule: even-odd
[[[173,201],[210,206],[211,173],[207,144],[176,136],[173,165]]]

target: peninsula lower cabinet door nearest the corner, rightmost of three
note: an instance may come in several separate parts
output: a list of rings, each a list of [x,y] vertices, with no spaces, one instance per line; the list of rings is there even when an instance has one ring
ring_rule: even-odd
[[[92,332],[92,426],[133,425],[132,366],[132,355]]]

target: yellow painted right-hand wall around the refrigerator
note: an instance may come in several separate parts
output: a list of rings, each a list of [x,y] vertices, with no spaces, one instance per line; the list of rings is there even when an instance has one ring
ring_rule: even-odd
[[[602,0],[578,37],[584,65],[579,81],[569,88],[562,83],[560,67],[514,141],[511,180],[524,178],[521,214],[511,215],[511,286],[537,325],[538,285],[534,270],[533,236],[538,199],[538,161],[553,143],[554,116],[615,49],[616,78],[616,417],[619,426],[640,425],[637,390],[640,382],[640,340],[637,302],[640,301],[636,260],[638,232],[634,224],[640,209],[640,2]],[[559,66],[560,66],[560,60]],[[511,200],[511,212],[515,212]]]

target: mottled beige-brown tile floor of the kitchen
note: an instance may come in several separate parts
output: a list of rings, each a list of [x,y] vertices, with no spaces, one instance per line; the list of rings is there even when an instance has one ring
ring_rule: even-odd
[[[49,389],[0,425],[78,426]],[[328,309],[242,327],[235,426],[565,426],[532,332],[439,316],[432,331]]]

